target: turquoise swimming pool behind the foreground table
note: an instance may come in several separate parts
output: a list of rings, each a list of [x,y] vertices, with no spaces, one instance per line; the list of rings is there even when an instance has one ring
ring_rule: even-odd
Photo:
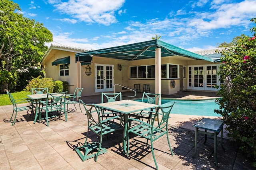
[[[137,101],[141,101],[141,99]],[[218,104],[215,103],[215,98],[206,100],[184,100],[174,98],[161,99],[161,105],[163,106],[169,102],[176,102],[172,107],[172,114],[221,117],[220,114],[214,112],[214,109],[219,109]]]

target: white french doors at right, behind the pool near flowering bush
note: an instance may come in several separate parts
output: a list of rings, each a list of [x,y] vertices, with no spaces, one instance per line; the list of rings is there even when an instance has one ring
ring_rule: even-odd
[[[214,88],[220,84],[217,72],[218,64],[188,66],[188,89],[217,90]]]

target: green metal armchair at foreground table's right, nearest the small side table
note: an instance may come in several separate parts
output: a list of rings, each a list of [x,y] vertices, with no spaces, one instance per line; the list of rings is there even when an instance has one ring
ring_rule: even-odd
[[[163,135],[166,134],[168,145],[169,145],[170,151],[173,155],[172,148],[170,146],[169,137],[168,137],[168,119],[169,119],[169,115],[170,115],[170,112],[171,112],[171,109],[172,109],[174,103],[158,107],[156,114],[154,114],[154,118],[152,119],[151,124],[141,121],[139,119],[128,118],[129,122],[136,121],[136,122],[138,122],[138,124],[136,123],[135,126],[130,127],[130,129],[128,129],[128,131],[127,131],[127,138],[128,138],[127,139],[127,153],[126,153],[127,156],[129,155],[129,133],[134,133],[135,135],[139,135],[140,137],[146,138],[147,141],[150,140],[152,154],[153,154],[154,162],[156,165],[156,169],[158,169],[158,166],[156,163],[156,158],[155,158],[154,148],[153,148],[153,142],[156,139],[159,139],[160,137],[162,137]],[[161,111],[161,113],[159,113],[159,111]],[[160,120],[158,123],[154,123],[156,116],[158,114],[161,115],[161,116],[159,116]]]

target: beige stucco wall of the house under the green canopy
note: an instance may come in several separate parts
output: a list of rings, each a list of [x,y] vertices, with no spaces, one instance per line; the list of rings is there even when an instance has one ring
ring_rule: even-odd
[[[44,60],[42,65],[45,65],[46,68],[46,77],[53,78],[54,80],[62,80],[69,82],[69,94],[74,93],[76,87],[78,87],[78,76],[77,76],[77,63],[75,63],[75,52],[70,51],[62,51],[53,49]],[[63,57],[70,56],[70,65],[69,65],[69,76],[59,76],[59,65],[52,66],[52,62],[56,59],[60,59]],[[143,91],[143,84],[150,85],[150,92],[155,92],[155,80],[152,79],[130,79],[130,66],[143,66],[143,65],[153,65],[155,63],[155,59],[145,59],[145,60],[137,60],[137,61],[124,61],[118,59],[108,59],[105,57],[93,57],[92,63],[89,65],[91,67],[92,74],[87,76],[85,74],[86,65],[81,66],[81,87],[84,88],[82,92],[82,96],[92,96],[100,93],[95,92],[95,64],[110,64],[114,65],[114,84],[121,84],[128,88],[133,89],[134,84],[140,84],[140,90]],[[179,64],[183,66],[188,65],[199,65],[199,64],[212,64],[208,61],[200,61],[188,59],[185,57],[162,57],[161,64],[172,63]],[[122,65],[122,70],[118,70],[118,64]],[[188,69],[188,67],[186,67]],[[79,71],[79,70],[78,70]],[[183,90],[187,90],[187,81],[188,81],[188,70],[186,70],[186,78],[183,79]],[[180,79],[175,79],[175,88],[172,88],[170,82],[172,80],[162,79],[161,80],[161,92],[162,94],[175,94],[180,91]],[[115,87],[116,92],[122,92],[122,88],[120,86]]]

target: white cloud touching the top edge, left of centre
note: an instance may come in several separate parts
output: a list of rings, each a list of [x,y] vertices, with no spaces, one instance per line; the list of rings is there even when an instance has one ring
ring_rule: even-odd
[[[117,22],[115,11],[120,9],[124,0],[68,0],[68,2],[48,1],[56,10],[88,23],[110,25]]]

